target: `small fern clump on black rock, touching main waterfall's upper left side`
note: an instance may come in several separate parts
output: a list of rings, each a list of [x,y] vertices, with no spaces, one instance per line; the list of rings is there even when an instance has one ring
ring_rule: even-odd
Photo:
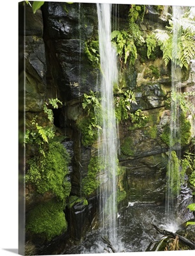
[[[99,67],[99,41],[90,40],[85,42],[85,53],[87,54],[93,67]]]

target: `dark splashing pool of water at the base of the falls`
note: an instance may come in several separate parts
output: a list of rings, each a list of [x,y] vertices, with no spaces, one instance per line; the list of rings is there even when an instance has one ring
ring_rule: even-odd
[[[120,216],[119,216],[120,215]],[[129,204],[119,212],[117,218],[117,252],[145,252],[150,242],[161,237],[152,224],[164,227],[164,206],[155,204]],[[87,234],[85,241],[64,250],[62,254],[107,253],[106,244],[101,241],[101,230]],[[112,243],[112,239],[110,239]]]

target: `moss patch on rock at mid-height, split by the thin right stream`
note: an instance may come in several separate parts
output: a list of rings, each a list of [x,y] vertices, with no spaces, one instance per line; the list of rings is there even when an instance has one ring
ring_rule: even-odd
[[[178,126],[180,127],[180,136],[178,136],[178,131],[176,132],[175,138],[172,138],[172,145],[170,144],[170,125],[166,124],[163,128],[163,133],[161,134],[161,139],[168,146],[174,146],[176,143],[180,143],[181,146],[189,144],[191,139],[191,123],[185,118],[184,114],[180,115],[180,120]],[[180,140],[178,140],[178,137]]]

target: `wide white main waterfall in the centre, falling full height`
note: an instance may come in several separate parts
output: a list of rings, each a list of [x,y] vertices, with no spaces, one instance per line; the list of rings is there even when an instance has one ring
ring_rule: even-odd
[[[113,106],[113,83],[117,82],[117,57],[111,43],[112,4],[97,4],[99,54],[101,62],[101,106],[103,127],[99,134],[99,164],[101,173],[99,225],[101,236],[117,244],[117,129]]]

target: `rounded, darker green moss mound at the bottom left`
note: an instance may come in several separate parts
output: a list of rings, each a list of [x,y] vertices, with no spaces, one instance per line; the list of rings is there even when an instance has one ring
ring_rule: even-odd
[[[27,230],[45,237],[48,241],[55,236],[59,236],[67,229],[64,208],[64,202],[57,202],[56,200],[36,205],[27,214]]]

